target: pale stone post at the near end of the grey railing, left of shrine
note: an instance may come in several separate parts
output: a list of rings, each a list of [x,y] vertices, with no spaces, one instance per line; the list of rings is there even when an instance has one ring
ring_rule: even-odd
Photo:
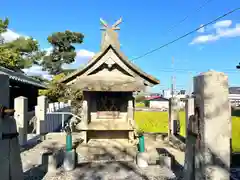
[[[46,122],[46,112],[47,112],[47,97],[46,96],[39,96],[37,105],[37,134],[45,134],[47,128]]]

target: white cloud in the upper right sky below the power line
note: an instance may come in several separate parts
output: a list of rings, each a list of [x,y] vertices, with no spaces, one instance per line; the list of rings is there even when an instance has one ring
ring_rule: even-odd
[[[231,25],[231,20],[216,22],[213,25],[213,33],[197,36],[192,40],[190,44],[203,44],[207,42],[217,41],[221,38],[232,38],[240,36],[240,24],[236,24],[235,27],[230,27]]]

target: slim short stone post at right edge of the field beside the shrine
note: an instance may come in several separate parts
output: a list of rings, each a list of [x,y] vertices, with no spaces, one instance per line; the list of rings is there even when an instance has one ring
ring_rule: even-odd
[[[179,99],[176,97],[169,100],[169,133],[175,135],[177,133],[177,123],[179,121]]]

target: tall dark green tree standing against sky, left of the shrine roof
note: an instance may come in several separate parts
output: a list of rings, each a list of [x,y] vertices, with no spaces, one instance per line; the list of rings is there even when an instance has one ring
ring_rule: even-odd
[[[83,42],[83,34],[79,32],[57,32],[48,37],[48,42],[52,45],[52,52],[43,58],[41,63],[43,70],[52,75],[63,72],[62,65],[74,62],[76,57],[73,44]]]

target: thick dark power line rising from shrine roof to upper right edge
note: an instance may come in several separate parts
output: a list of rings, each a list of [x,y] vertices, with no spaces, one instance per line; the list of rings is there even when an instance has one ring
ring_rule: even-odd
[[[218,21],[218,20],[220,20],[220,19],[222,19],[222,18],[224,18],[224,17],[226,17],[226,16],[228,16],[228,15],[230,15],[230,14],[232,14],[232,13],[238,11],[238,10],[240,10],[240,8],[236,8],[236,9],[233,9],[233,10],[231,10],[231,11],[228,11],[227,13],[225,13],[225,14],[217,17],[216,19],[214,19],[214,20],[212,20],[212,21],[210,21],[210,22],[208,22],[208,23],[206,23],[206,24],[204,24],[204,25],[202,25],[202,26],[200,26],[200,27],[198,27],[198,28],[196,28],[196,29],[194,29],[194,30],[192,30],[192,31],[190,31],[190,32],[188,32],[188,33],[186,33],[186,34],[184,34],[184,35],[182,35],[182,36],[180,36],[180,37],[172,40],[172,41],[170,41],[170,42],[168,42],[168,43],[166,43],[166,44],[163,44],[162,46],[160,46],[160,47],[158,47],[158,48],[155,48],[155,49],[153,49],[153,50],[150,50],[150,51],[144,53],[143,55],[140,55],[140,56],[138,56],[138,57],[136,57],[136,58],[131,59],[131,61],[134,61],[134,60],[143,58],[143,57],[145,57],[145,56],[147,56],[147,55],[149,55],[149,54],[154,53],[155,51],[158,51],[159,49],[162,49],[162,48],[164,48],[164,47],[166,47],[166,46],[169,46],[170,44],[173,44],[173,43],[175,43],[175,42],[177,42],[177,41],[179,41],[179,40],[181,40],[181,39],[189,36],[190,34],[193,34],[194,32],[198,31],[199,29],[204,28],[204,27],[206,27],[206,26],[208,26],[208,25],[210,25],[210,24],[213,24],[214,22],[216,22],[216,21]]]

